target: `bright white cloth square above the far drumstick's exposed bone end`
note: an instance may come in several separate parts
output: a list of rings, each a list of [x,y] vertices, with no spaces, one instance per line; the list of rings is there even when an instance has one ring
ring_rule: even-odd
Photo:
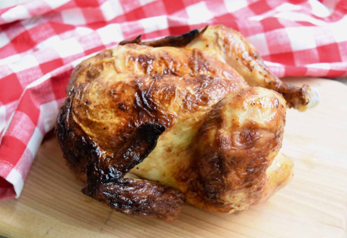
[[[293,51],[307,50],[316,47],[313,32],[309,27],[288,27],[286,31]]]

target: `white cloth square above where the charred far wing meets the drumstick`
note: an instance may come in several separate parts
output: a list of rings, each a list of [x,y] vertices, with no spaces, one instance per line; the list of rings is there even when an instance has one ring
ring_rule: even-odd
[[[213,14],[207,9],[205,2],[199,2],[186,8],[189,24],[204,23],[213,17]]]

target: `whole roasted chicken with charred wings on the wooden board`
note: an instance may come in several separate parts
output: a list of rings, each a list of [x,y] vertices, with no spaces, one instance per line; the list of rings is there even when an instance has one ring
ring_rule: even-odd
[[[185,202],[234,212],[291,179],[286,107],[315,90],[274,76],[225,26],[123,41],[71,74],[56,134],[82,192],[119,212],[175,219]]]

